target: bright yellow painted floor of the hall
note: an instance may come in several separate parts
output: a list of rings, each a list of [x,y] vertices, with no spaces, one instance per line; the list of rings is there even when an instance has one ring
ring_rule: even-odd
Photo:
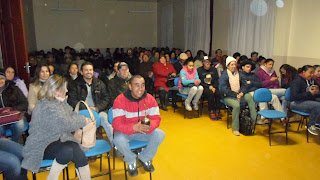
[[[320,137],[310,135],[310,143],[307,143],[305,128],[297,133],[297,124],[290,128],[288,145],[285,134],[276,134],[269,146],[267,127],[257,126],[254,136],[234,136],[231,129],[226,128],[224,111],[222,121],[211,121],[206,107],[200,118],[196,118],[194,112],[192,119],[183,119],[182,108],[175,113],[171,107],[168,109],[168,112],[160,112],[160,128],[165,131],[166,138],[153,161],[154,180],[307,180],[320,177]],[[274,128],[282,130],[284,127],[277,122]],[[103,160],[106,170],[106,157]],[[99,160],[90,167],[92,175],[97,173]],[[37,179],[45,179],[47,173],[38,174]],[[69,173],[71,179],[75,177],[73,165]],[[116,158],[112,179],[124,179],[122,158]],[[140,169],[137,177],[129,179],[146,180],[149,174]]]

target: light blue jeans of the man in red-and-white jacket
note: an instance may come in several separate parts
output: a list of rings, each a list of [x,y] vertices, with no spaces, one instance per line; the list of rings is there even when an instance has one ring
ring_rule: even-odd
[[[138,140],[148,142],[147,147],[138,155],[138,158],[141,161],[147,162],[152,160],[156,155],[158,147],[162,143],[164,137],[165,133],[158,128],[154,129],[151,134],[136,133],[127,135],[121,132],[115,132],[113,142],[117,149],[124,155],[123,160],[128,164],[133,164],[136,162],[137,155],[130,150],[129,141]]]

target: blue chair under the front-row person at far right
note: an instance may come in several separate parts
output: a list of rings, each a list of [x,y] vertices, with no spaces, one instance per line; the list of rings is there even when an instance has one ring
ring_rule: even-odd
[[[295,114],[298,114],[300,115],[301,119],[300,120],[293,120],[293,121],[290,121],[288,123],[299,123],[298,125],[298,129],[297,131],[299,131],[299,128],[302,128],[303,124],[304,124],[304,121],[306,121],[306,124],[308,123],[308,119],[310,118],[310,113],[307,113],[307,112],[303,112],[303,111],[298,111],[298,110],[295,110],[295,109],[292,109],[291,106],[290,106],[290,101],[291,101],[291,91],[290,91],[290,88],[288,88],[286,90],[286,93],[285,93],[285,98],[286,98],[286,101],[287,101],[287,109],[288,109],[288,112],[293,112]],[[309,142],[309,132],[308,132],[308,128],[306,129],[306,134],[307,134],[307,142]]]

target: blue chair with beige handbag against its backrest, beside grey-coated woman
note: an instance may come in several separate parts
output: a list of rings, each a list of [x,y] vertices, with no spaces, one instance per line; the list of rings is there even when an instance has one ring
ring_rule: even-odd
[[[96,119],[96,126],[97,128],[99,128],[101,125],[99,114],[96,111],[92,111],[92,113]],[[81,110],[79,111],[79,114],[90,118],[90,114],[88,110]],[[97,139],[96,145],[92,148],[89,148],[89,150],[85,152],[86,157],[98,156],[100,158],[100,172],[102,172],[102,155],[107,154],[109,171],[91,176],[92,178],[109,174],[109,179],[111,180],[110,154],[109,154],[110,150],[111,150],[111,146],[106,140]]]

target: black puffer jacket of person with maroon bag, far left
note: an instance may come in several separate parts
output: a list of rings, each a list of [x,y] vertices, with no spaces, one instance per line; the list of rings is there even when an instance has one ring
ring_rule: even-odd
[[[7,81],[0,96],[0,107],[13,107],[17,111],[28,109],[28,100],[14,82]]]

